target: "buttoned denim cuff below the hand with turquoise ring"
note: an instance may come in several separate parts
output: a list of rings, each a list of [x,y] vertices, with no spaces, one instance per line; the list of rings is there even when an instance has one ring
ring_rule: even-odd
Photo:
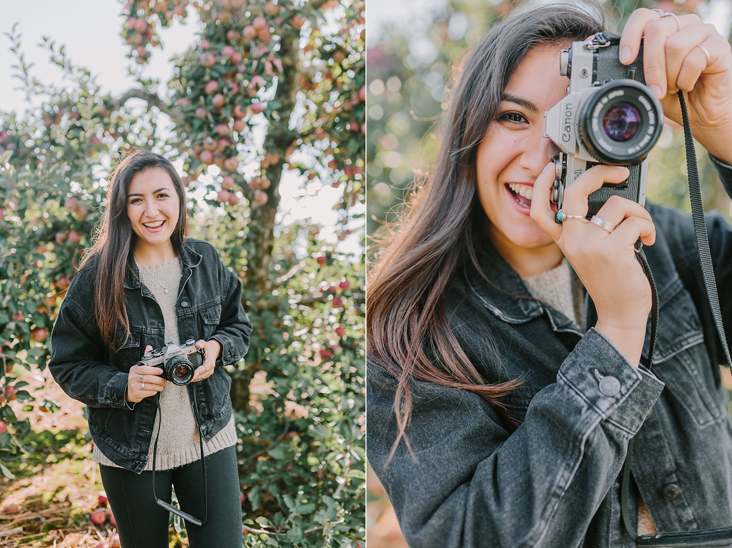
[[[559,369],[564,381],[602,420],[635,435],[664,384],[645,367],[633,367],[605,336],[591,328]]]

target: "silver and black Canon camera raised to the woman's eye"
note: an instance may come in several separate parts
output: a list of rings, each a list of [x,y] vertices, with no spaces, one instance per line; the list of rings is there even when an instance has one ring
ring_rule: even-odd
[[[588,218],[613,194],[645,204],[647,157],[663,129],[661,104],[643,78],[643,45],[635,61],[625,66],[618,59],[619,41],[616,34],[598,32],[562,50],[559,72],[569,76],[567,96],[544,115],[544,136],[561,150],[554,157],[551,195],[558,210],[564,187],[593,165],[630,169],[626,181],[605,183],[592,192]]]

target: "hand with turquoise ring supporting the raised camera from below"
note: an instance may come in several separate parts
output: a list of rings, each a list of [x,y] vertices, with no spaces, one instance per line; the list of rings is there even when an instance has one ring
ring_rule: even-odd
[[[619,183],[628,177],[627,168],[596,165],[564,189],[562,209],[569,215],[586,215],[587,197],[602,183]],[[635,242],[651,245],[656,228],[648,211],[638,203],[611,197],[597,217],[619,225],[608,233],[586,219],[554,222],[550,192],[554,164],[550,163],[534,181],[531,218],[556,242],[582,280],[597,308],[600,331],[634,366],[638,366],[651,311],[651,286],[635,258]],[[622,224],[621,224],[622,223]]]

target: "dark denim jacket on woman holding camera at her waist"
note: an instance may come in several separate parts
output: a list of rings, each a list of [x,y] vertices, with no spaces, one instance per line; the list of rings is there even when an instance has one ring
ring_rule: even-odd
[[[196,424],[209,441],[231,418],[231,378],[220,366],[244,357],[252,324],[242,308],[239,278],[224,266],[211,244],[186,239],[178,252],[180,339],[216,339],[222,345],[214,373],[187,386]],[[74,277],[61,304],[48,369],[64,392],[89,406],[89,432],[102,453],[116,465],[141,473],[160,394],[133,404],[124,399],[124,391],[130,367],[138,363],[145,347],[165,346],[165,322],[152,292],[140,282],[132,254],[127,267],[124,302],[132,336],[117,351],[102,344],[93,319],[96,269],[90,260]]]

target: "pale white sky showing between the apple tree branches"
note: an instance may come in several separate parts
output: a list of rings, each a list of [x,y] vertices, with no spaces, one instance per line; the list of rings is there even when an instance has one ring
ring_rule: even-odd
[[[26,63],[34,64],[31,74],[42,82],[59,86],[63,83],[61,70],[48,61],[48,51],[38,47],[42,37],[47,36],[56,45],[64,45],[74,64],[89,68],[97,76],[102,92],[119,95],[137,87],[128,68],[136,70],[138,65],[127,59],[127,45],[119,36],[124,20],[121,13],[122,4],[117,0],[0,0],[0,109],[22,113],[28,107],[23,92],[17,89],[19,80],[12,78],[18,72],[12,68],[17,59],[9,50],[11,42],[6,34],[15,23],[18,23],[16,32],[22,35]],[[198,16],[191,11],[184,24],[163,29],[160,32],[163,50],[153,50],[149,64],[143,68],[143,76],[159,78],[164,85],[172,75],[168,60],[187,50],[198,28]],[[335,243],[332,228],[339,218],[332,206],[340,192],[329,186],[311,183],[303,187],[300,183],[296,173],[285,171],[280,184],[280,218],[286,223],[298,219],[317,222],[324,228],[321,235]],[[338,244],[338,249],[360,253],[359,236],[356,233],[348,236]]]

